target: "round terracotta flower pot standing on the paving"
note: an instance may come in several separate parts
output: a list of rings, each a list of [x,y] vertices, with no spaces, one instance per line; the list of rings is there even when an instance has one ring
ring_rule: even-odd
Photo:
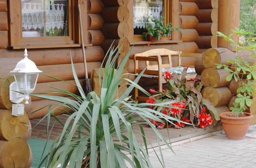
[[[246,117],[229,117],[228,115],[231,114],[231,111],[220,114],[222,126],[227,138],[233,140],[244,139],[253,115],[250,113],[244,113]]]

